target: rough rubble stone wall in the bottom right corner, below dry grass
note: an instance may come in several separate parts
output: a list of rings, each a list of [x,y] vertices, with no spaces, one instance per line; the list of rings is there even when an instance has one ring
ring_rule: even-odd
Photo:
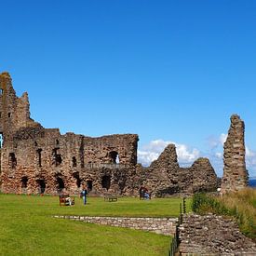
[[[256,255],[256,244],[222,216],[184,215],[178,231],[180,255]]]

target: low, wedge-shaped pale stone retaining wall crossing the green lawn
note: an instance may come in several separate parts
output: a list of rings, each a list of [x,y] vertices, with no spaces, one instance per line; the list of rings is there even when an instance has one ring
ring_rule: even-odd
[[[121,218],[121,217],[88,217],[88,216],[54,216],[79,222],[97,223],[116,227],[127,227],[154,232],[165,236],[175,234],[177,218]]]

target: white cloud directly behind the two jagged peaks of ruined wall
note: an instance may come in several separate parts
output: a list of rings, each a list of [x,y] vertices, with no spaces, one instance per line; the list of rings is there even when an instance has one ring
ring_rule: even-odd
[[[185,144],[173,141],[155,140],[143,145],[141,150],[138,150],[138,162],[143,166],[149,166],[152,161],[158,158],[170,143],[176,145],[176,152],[181,166],[191,165],[200,155],[199,150],[195,148],[191,149]]]

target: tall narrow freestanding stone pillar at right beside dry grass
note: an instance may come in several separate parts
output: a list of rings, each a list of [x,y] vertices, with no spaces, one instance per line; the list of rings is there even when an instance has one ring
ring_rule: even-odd
[[[240,190],[248,185],[245,162],[245,124],[239,115],[232,115],[227,140],[224,143],[222,194]]]

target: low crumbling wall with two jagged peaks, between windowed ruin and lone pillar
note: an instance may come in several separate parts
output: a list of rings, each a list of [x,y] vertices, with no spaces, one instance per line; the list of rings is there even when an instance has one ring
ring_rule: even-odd
[[[180,168],[174,144],[169,144],[149,168],[137,167],[138,183],[156,196],[216,191],[218,178],[209,159],[198,158],[191,168]]]

